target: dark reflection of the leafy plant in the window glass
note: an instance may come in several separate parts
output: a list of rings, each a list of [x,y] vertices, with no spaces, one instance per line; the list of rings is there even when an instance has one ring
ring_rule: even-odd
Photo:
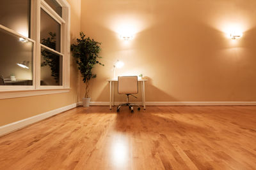
[[[49,37],[42,39],[42,45],[56,50],[56,33],[49,32]],[[41,54],[44,56],[44,61],[41,62],[41,67],[49,66],[51,68],[51,76],[56,83],[59,83],[60,57],[44,48],[42,48]]]

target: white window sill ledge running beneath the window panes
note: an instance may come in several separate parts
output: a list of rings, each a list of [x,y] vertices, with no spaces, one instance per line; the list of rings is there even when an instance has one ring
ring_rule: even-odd
[[[16,97],[40,96],[46,94],[67,93],[70,88],[63,89],[33,89],[33,90],[4,90],[0,91],[0,99],[10,99]]]

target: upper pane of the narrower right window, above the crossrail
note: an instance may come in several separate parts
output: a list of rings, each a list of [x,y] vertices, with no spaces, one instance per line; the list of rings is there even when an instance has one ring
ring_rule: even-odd
[[[41,9],[40,39],[42,45],[60,52],[60,24]]]

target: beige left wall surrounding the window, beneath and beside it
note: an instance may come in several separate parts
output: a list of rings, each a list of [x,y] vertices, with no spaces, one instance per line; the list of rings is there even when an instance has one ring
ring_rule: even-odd
[[[80,31],[81,0],[68,0],[71,6],[71,43]],[[70,92],[44,96],[20,97],[15,99],[0,99],[0,126],[10,124],[24,118],[33,117],[46,111],[61,108],[77,102],[77,66],[70,57]]]

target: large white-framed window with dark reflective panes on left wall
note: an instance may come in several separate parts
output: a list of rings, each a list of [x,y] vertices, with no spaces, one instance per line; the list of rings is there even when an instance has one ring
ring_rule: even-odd
[[[0,1],[0,99],[69,89],[69,16],[66,0]]]

